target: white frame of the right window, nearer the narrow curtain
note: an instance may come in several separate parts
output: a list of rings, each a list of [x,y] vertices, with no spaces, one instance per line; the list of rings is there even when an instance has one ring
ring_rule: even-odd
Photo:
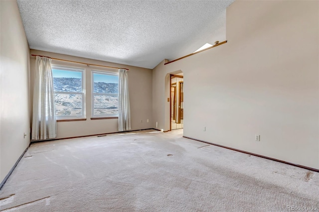
[[[94,114],[94,95],[100,96],[117,96],[119,97],[119,93],[117,94],[105,94],[105,93],[94,93],[94,74],[105,74],[105,75],[113,75],[119,77],[119,72],[111,71],[111,70],[97,70],[91,69],[91,119],[108,119],[108,118],[118,118],[119,113],[117,114]]]

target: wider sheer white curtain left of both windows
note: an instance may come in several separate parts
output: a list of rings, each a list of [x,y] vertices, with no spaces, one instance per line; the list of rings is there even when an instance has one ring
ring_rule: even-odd
[[[32,140],[56,137],[51,58],[36,56],[33,88]]]

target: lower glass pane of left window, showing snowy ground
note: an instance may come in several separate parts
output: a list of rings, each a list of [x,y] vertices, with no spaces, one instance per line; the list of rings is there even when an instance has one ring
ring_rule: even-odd
[[[55,94],[56,115],[82,115],[81,94]]]

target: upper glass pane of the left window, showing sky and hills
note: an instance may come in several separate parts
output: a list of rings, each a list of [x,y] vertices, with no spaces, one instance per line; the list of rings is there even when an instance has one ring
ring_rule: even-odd
[[[82,72],[52,69],[56,92],[82,92]]]

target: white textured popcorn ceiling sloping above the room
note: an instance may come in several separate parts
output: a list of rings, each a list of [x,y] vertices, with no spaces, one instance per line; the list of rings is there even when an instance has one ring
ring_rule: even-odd
[[[154,68],[226,38],[233,0],[17,0],[31,49]]]

